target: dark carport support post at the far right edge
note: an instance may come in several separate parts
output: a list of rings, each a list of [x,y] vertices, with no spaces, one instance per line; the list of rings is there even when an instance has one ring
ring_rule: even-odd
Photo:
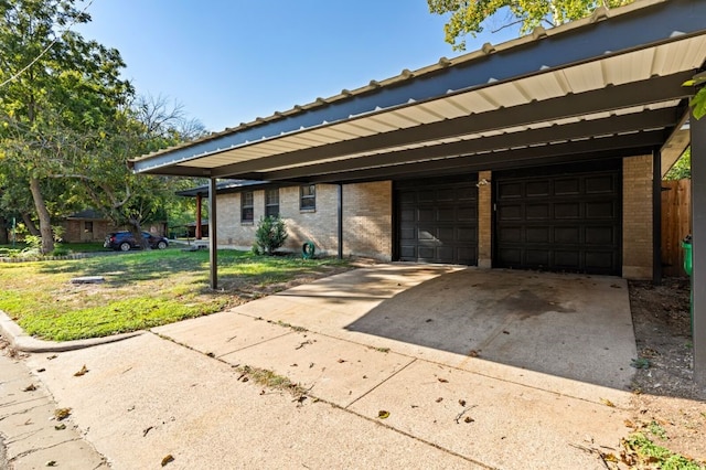
[[[706,289],[704,289],[706,286],[706,116],[696,119],[692,114],[689,128],[692,135],[694,382],[706,388]]]

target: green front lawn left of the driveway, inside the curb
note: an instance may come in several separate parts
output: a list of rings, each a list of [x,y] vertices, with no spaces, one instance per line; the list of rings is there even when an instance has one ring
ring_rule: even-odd
[[[345,261],[218,252],[217,292],[208,288],[207,250],[109,254],[73,260],[0,264],[0,310],[29,334],[67,341],[142,330],[221,311],[321,277]],[[74,285],[81,276],[104,284]]]

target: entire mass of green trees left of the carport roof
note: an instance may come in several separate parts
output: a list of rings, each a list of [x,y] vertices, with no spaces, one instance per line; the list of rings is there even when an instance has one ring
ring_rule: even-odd
[[[119,52],[72,31],[90,21],[76,4],[0,0],[0,212],[21,215],[43,253],[52,218],[87,204],[140,239],[184,183],[135,175],[127,159],[205,132],[179,104],[136,98]]]

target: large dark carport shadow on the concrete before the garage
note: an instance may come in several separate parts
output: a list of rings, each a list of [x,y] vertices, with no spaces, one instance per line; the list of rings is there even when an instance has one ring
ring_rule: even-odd
[[[628,286],[613,277],[469,268],[403,290],[345,329],[617,389],[637,357]]]

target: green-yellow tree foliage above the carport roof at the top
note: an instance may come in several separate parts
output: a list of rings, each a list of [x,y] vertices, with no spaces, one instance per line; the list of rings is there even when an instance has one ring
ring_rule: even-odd
[[[520,32],[528,33],[546,24],[557,26],[589,15],[599,7],[614,8],[633,0],[427,0],[431,13],[449,15],[443,26],[446,42],[454,51],[466,50],[467,34],[483,31],[483,22],[500,11],[507,11],[509,22],[521,24]]]

